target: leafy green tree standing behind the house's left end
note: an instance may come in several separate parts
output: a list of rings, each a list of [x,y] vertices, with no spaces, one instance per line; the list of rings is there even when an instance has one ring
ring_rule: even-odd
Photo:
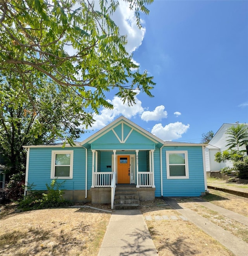
[[[91,125],[92,115],[71,87],[61,90],[45,76],[29,74],[23,82],[16,74],[0,74],[0,141],[9,173],[25,170],[24,145],[49,144],[57,140],[73,143]],[[29,97],[20,88],[28,89]],[[31,99],[30,99],[31,98]]]

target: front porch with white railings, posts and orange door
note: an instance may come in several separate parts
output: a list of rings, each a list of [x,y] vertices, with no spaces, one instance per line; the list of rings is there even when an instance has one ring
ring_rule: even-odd
[[[91,151],[91,188],[110,188],[112,182],[115,184],[135,184],[137,188],[155,188],[153,156],[154,150]],[[125,166],[122,167],[121,165]],[[114,173],[115,180],[113,181]],[[125,181],[119,178],[121,175],[126,175]]]

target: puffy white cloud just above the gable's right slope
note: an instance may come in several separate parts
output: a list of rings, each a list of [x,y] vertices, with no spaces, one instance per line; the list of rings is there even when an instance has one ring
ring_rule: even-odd
[[[182,137],[189,129],[189,124],[184,125],[181,122],[171,123],[162,126],[162,124],[155,124],[152,128],[152,134],[164,141],[172,141],[173,139],[178,139]]]

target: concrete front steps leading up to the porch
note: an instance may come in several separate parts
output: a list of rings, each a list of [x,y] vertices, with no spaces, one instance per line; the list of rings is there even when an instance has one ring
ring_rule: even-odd
[[[114,209],[140,209],[140,200],[136,187],[130,185],[117,185],[115,188]]]

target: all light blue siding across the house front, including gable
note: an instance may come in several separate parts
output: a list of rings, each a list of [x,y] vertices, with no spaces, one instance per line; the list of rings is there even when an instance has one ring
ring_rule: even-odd
[[[92,185],[92,158],[91,150],[97,150],[97,171],[111,172],[112,166],[112,150],[118,150],[116,155],[136,155],[136,150],[139,150],[139,171],[150,170],[149,150],[154,150],[154,181],[155,181],[155,196],[161,196],[161,172],[160,172],[160,148],[161,143],[156,143],[153,139],[148,138],[147,134],[138,132],[125,123],[120,122],[116,126],[108,130],[102,136],[92,138],[87,141],[85,146],[87,149],[87,188],[90,190]],[[115,132],[112,131],[114,129]],[[129,134],[129,132],[131,134]],[[119,137],[119,139],[116,137]],[[129,136],[127,138],[127,136]],[[124,140],[126,139],[125,143]],[[120,142],[121,140],[122,142]],[[156,148],[157,145],[157,148]],[[36,185],[36,190],[46,190],[46,183],[51,182],[51,159],[52,150],[73,150],[73,179],[65,179],[65,184],[62,189],[66,190],[85,190],[85,175],[86,175],[86,150],[83,147],[67,147],[58,148],[48,146],[47,148],[35,147],[30,148],[29,155],[29,172],[28,183]],[[166,173],[166,151],[186,150],[188,152],[188,167],[189,179],[167,179]],[[136,161],[136,158],[135,158]],[[108,167],[107,167],[108,166]],[[135,164],[136,166],[136,164]],[[64,179],[59,179],[59,182]],[[200,196],[205,191],[204,172],[203,172],[203,157],[202,146],[164,146],[162,148],[162,181],[163,195],[165,197],[176,196]]]

